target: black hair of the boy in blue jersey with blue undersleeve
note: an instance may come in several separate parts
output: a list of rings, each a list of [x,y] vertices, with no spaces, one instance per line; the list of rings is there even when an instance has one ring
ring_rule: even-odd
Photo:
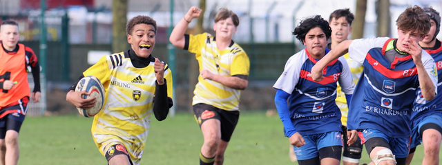
[[[301,21],[292,34],[296,36],[296,39],[304,43],[307,32],[316,27],[323,30],[327,40],[332,36],[332,28],[330,28],[329,23],[325,21],[323,17],[320,17],[320,15]]]

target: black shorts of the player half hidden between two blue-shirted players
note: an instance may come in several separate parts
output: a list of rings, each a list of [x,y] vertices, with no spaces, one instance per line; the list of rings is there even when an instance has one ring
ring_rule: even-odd
[[[347,141],[347,126],[342,126],[343,128],[343,156],[349,157],[353,159],[361,159],[362,157],[362,149],[363,144],[361,144],[361,138],[359,138],[358,135],[356,135],[356,142],[354,142],[352,145],[348,146]]]

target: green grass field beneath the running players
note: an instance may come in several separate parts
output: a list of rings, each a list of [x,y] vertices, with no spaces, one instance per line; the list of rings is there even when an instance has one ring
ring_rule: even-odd
[[[19,136],[19,164],[107,164],[91,137],[92,120],[79,115],[27,117]],[[162,122],[153,119],[141,164],[199,164],[201,145],[200,128],[190,113]],[[422,148],[418,147],[412,164],[421,164]],[[290,162],[288,154],[288,139],[277,115],[244,112],[224,164],[297,164]],[[363,153],[361,163],[367,162]]]

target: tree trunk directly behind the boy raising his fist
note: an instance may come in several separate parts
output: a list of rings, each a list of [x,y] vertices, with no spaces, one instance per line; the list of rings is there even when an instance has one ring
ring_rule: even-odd
[[[195,28],[193,29],[193,34],[200,34],[204,32],[204,28],[202,27],[202,23],[204,21],[204,12],[206,12],[206,0],[200,0],[199,7],[202,11],[200,17],[198,17],[198,21],[196,23]],[[190,100],[193,98],[193,91],[195,90],[195,85],[198,83],[198,76],[200,75],[198,61],[195,58],[195,55],[192,55],[190,58],[190,67],[189,67],[189,97]],[[189,111],[193,112],[192,104],[189,104]]]

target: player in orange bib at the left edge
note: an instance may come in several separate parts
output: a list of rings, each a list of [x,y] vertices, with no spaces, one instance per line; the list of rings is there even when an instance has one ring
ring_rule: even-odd
[[[0,27],[0,164],[19,161],[19,131],[28,111],[28,72],[34,78],[31,98],[39,102],[40,65],[34,51],[18,43],[19,25],[6,20]],[[30,70],[29,70],[30,69]]]

